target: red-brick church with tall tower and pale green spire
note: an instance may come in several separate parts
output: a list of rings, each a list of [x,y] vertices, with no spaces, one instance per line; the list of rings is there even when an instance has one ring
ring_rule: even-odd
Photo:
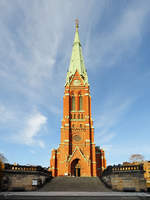
[[[61,143],[52,150],[52,176],[100,176],[105,153],[95,147],[91,96],[78,32],[78,20],[63,97]]]

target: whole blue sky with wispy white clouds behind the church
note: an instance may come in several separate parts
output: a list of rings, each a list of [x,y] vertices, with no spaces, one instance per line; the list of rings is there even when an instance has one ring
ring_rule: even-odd
[[[76,18],[96,145],[107,164],[134,153],[150,160],[149,0],[0,1],[0,152],[49,166]]]

